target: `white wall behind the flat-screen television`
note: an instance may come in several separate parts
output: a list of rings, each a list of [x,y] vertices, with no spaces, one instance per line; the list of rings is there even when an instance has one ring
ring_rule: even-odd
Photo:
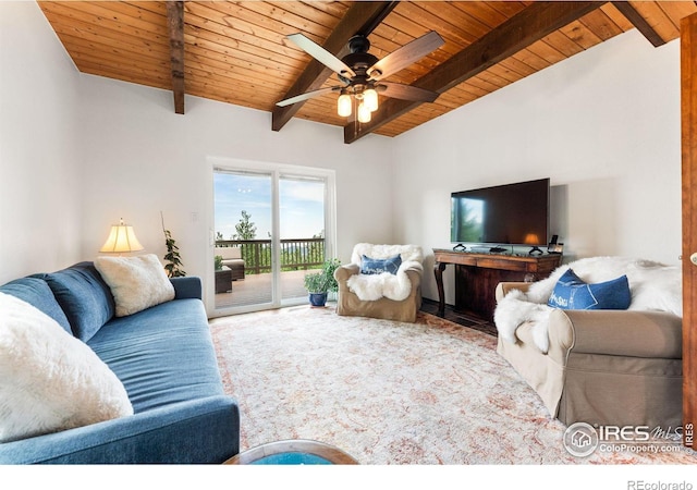
[[[395,238],[451,247],[451,192],[549,176],[567,259],[677,264],[680,118],[680,41],[617,36],[394,138]]]

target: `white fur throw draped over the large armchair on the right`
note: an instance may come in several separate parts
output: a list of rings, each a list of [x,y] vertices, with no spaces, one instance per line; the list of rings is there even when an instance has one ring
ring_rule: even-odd
[[[530,322],[535,345],[541,352],[548,352],[547,323],[553,308],[547,306],[547,301],[559,278],[570,268],[588,283],[610,281],[626,274],[632,293],[628,309],[669,311],[683,316],[680,266],[625,257],[591,257],[559,267],[549,278],[533,284],[527,293],[513,290],[506,294],[497,305],[493,315],[502,340],[515,343],[516,329]]]

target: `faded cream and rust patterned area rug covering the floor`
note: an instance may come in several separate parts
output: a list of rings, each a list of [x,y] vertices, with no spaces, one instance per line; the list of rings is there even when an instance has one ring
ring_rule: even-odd
[[[309,306],[211,320],[241,450],[283,439],[335,445],[362,464],[695,464],[673,454],[579,458],[497,339],[419,313],[416,323]]]

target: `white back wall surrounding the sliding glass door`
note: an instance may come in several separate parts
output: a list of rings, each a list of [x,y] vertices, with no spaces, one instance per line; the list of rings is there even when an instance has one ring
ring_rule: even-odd
[[[133,224],[147,252],[162,257],[163,211],[184,270],[212,283],[208,157],[333,169],[338,255],[344,262],[357,242],[392,240],[390,138],[345,145],[340,127],[292,120],[272,132],[268,112],[196,97],[185,102],[186,113],[179,115],[170,91],[81,77],[81,150],[89,183],[82,191],[89,203],[82,211],[85,258],[94,258],[119,218]]]

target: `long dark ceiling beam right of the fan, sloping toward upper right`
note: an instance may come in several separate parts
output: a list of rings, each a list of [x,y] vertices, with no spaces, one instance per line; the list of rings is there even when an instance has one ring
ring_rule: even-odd
[[[535,2],[412,85],[442,94],[604,3],[607,2]],[[344,143],[359,139],[421,103],[387,99],[369,123],[356,124],[353,121],[344,126]]]

